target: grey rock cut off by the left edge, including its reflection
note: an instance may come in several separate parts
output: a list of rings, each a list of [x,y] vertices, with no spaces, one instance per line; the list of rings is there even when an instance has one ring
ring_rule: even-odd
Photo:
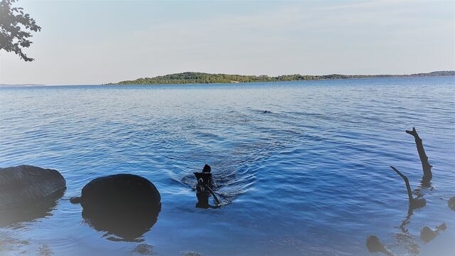
[[[65,178],[52,169],[0,168],[0,227],[50,215],[65,188]]]

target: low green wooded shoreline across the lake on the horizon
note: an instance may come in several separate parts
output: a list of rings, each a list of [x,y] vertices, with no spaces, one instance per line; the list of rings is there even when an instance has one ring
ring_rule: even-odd
[[[188,83],[232,83],[232,82],[277,82],[277,81],[300,81],[300,80],[323,80],[323,79],[348,79],[348,78],[407,78],[424,76],[447,76],[455,75],[455,71],[435,71],[432,73],[419,73],[412,75],[226,75],[185,72],[171,75],[161,75],[155,78],[138,78],[107,85],[156,85],[156,84],[188,84]]]

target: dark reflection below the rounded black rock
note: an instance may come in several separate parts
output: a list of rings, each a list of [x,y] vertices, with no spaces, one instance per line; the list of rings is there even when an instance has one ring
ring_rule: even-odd
[[[158,219],[159,211],[131,209],[129,211],[97,213],[82,210],[85,223],[98,231],[104,231],[108,240],[141,242],[141,236],[149,231]],[[114,236],[112,236],[114,235]]]

